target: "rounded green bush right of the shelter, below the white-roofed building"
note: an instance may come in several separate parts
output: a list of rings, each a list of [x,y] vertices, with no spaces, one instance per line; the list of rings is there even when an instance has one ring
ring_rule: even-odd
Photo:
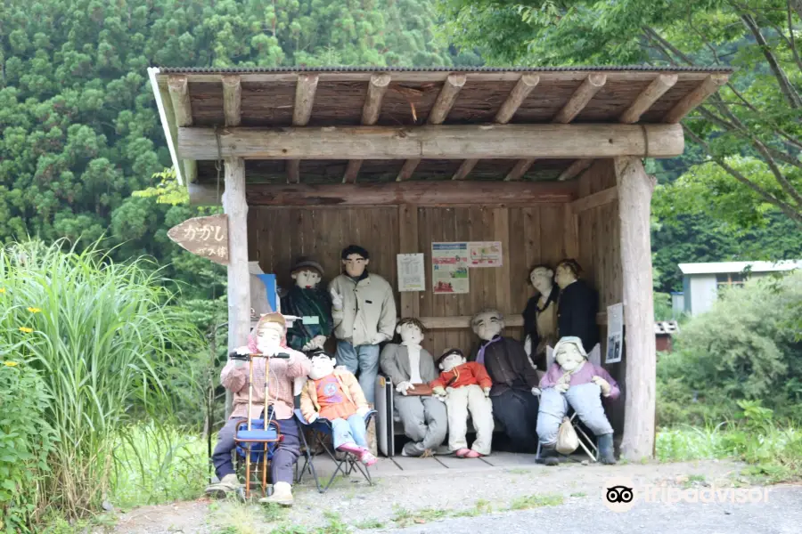
[[[724,291],[710,312],[675,336],[658,363],[659,425],[734,417],[738,401],[763,401],[802,420],[802,272]]]

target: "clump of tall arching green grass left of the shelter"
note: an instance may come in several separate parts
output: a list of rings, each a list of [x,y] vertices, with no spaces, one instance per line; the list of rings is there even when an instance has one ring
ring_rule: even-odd
[[[96,243],[82,252],[37,241],[0,250],[0,353],[37,369],[56,437],[37,507],[70,517],[96,510],[127,429],[168,417],[164,377],[176,376],[202,338],[171,309],[164,282],[152,263],[112,263]]]

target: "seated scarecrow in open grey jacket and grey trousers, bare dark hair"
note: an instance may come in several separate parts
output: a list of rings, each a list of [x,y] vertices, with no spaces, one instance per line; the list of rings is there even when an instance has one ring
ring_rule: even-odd
[[[396,332],[401,344],[388,344],[381,351],[381,372],[396,385],[393,404],[410,440],[402,456],[431,456],[446,441],[446,405],[434,395],[414,394],[415,385],[429,384],[438,377],[434,358],[421,347],[423,325],[416,319],[402,319]]]

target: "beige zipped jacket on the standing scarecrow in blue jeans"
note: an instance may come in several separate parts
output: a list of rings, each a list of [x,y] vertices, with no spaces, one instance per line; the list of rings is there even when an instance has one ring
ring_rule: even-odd
[[[331,280],[329,291],[342,295],[342,310],[331,310],[334,336],[354,346],[389,341],[396,330],[396,298],[387,280],[368,274],[355,282],[340,274]],[[381,334],[381,341],[376,338]]]

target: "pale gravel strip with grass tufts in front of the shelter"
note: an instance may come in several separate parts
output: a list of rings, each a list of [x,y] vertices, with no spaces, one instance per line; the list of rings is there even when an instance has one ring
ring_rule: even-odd
[[[385,476],[374,486],[356,477],[335,482],[321,495],[305,483],[295,488],[290,509],[245,506],[201,499],[138,508],[119,517],[116,532],[198,534],[292,534],[329,525],[320,532],[373,532],[420,525],[447,517],[478,516],[572,501],[600,500],[605,481],[626,478],[642,487],[705,486],[738,483],[741,464],[704,461],[645,465],[525,465],[474,472],[411,473]],[[290,530],[294,525],[294,530]]]

